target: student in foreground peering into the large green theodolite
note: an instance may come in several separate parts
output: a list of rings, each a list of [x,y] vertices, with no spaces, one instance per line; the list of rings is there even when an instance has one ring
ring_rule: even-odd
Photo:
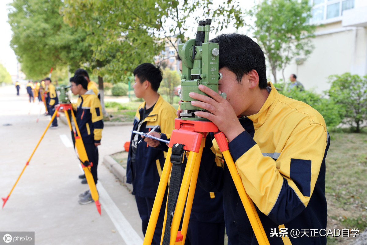
[[[222,131],[248,196],[271,245],[326,244],[325,158],[330,139],[323,117],[304,102],[280,95],[266,81],[265,57],[248,36],[224,34],[219,44],[219,91],[190,93],[195,115]],[[179,112],[178,112],[179,116]],[[212,134],[211,134],[212,136]],[[207,137],[198,183],[223,190],[228,243],[255,245],[257,239],[230,177],[222,153]],[[291,231],[306,231],[294,235]],[[311,234],[313,233],[313,235]]]

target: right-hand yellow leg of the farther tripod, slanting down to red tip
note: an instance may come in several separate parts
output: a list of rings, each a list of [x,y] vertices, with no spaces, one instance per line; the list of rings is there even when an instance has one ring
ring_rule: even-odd
[[[76,151],[78,152],[79,159],[81,161],[83,161],[80,164],[83,167],[84,173],[86,175],[86,179],[87,179],[87,183],[88,183],[88,186],[89,186],[91,195],[92,195],[92,199],[95,202],[95,205],[97,207],[97,210],[98,210],[99,215],[101,215],[101,204],[99,203],[99,195],[98,195],[98,192],[97,192],[97,187],[95,186],[93,175],[91,173],[91,166],[90,165],[85,166],[83,164],[85,161],[88,161],[88,156],[87,156],[86,148],[84,147],[83,140],[82,140],[82,138],[80,136],[79,127],[78,127],[78,124],[76,122],[76,118],[75,118],[74,112],[73,112],[72,109],[70,111],[71,111],[71,115],[72,115],[73,122],[74,122],[74,125],[75,125],[75,129],[76,129],[77,134],[78,134],[78,136],[75,136],[75,134],[74,134],[74,137],[75,137],[75,148],[76,148]],[[66,120],[68,120],[69,128],[70,128],[70,130],[72,130],[73,127],[71,125],[69,115],[68,115],[67,112],[65,112],[65,115],[66,115]]]

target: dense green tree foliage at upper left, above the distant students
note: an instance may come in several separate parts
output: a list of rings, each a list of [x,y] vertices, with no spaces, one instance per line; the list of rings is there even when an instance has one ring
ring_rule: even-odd
[[[28,78],[40,79],[50,68],[79,68],[91,56],[84,42],[87,33],[63,23],[59,0],[14,0],[9,24],[13,32],[11,47]]]

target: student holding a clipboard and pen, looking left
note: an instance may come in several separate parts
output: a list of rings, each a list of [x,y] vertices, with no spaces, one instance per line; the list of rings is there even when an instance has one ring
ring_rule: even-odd
[[[155,131],[160,133],[161,138],[165,140],[171,138],[176,110],[157,92],[162,80],[160,68],[150,63],[144,63],[135,68],[134,76],[135,96],[143,98],[144,102],[138,107],[132,129],[148,133],[155,126],[158,126]],[[147,143],[141,139],[138,134],[131,135],[126,181],[132,183],[134,188],[132,194],[135,195],[142,220],[142,231],[145,235],[167,153],[148,147]],[[165,143],[163,145],[166,146]],[[167,190],[163,203],[166,203],[166,199]],[[159,213],[152,244],[160,244],[164,207],[165,205],[162,205]]]

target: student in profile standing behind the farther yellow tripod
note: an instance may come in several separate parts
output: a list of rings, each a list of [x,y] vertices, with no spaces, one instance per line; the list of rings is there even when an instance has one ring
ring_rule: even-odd
[[[91,172],[94,183],[97,184],[98,148],[101,144],[103,115],[101,102],[92,90],[87,90],[87,80],[84,76],[74,76],[70,78],[71,91],[74,95],[79,94],[78,101],[73,105],[75,117],[79,127],[80,136],[86,148],[89,162],[92,162]],[[92,196],[88,191],[79,195],[80,204],[93,202]]]

